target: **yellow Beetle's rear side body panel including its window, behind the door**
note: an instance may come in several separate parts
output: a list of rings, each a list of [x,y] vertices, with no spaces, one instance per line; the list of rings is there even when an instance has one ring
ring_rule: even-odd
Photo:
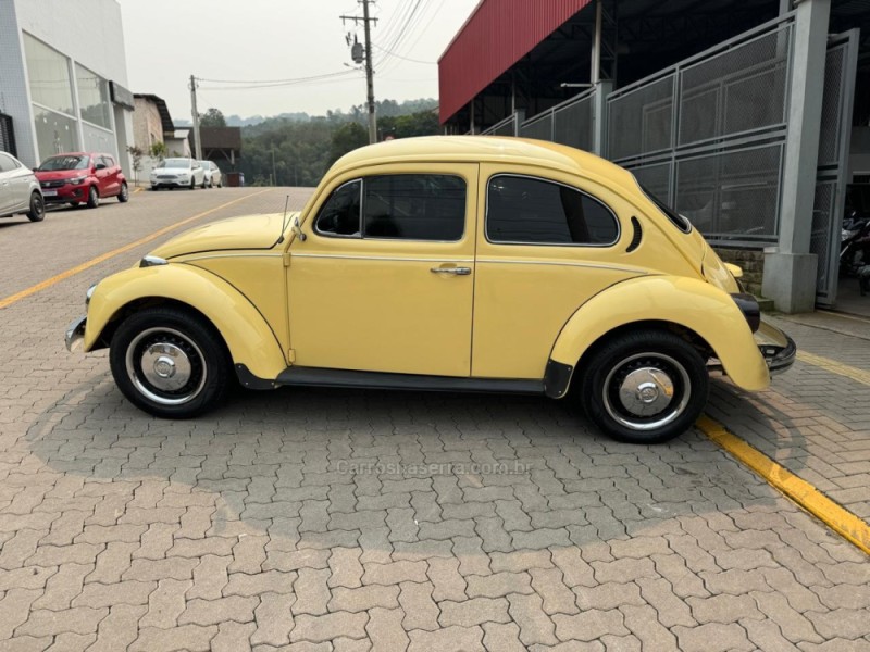
[[[472,375],[539,379],[571,315],[645,273],[625,260],[636,210],[551,170],[482,165],[481,185]]]

